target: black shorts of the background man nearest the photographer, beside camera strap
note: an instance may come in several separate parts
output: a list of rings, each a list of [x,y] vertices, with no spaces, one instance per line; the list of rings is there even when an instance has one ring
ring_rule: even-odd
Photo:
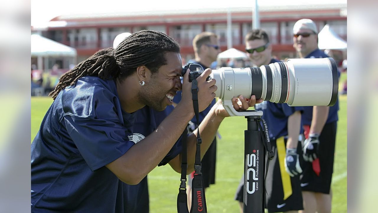
[[[209,149],[201,160],[201,171],[203,177],[204,188],[208,188],[211,184],[215,183],[215,160],[217,158],[217,139],[211,143]],[[187,175],[187,185],[192,186],[194,172]]]

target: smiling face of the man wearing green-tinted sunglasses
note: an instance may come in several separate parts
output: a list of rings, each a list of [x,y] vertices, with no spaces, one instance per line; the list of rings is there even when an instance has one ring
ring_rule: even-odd
[[[254,39],[249,40],[245,43],[245,49],[255,49],[265,45],[266,42],[264,39]],[[257,52],[256,50],[253,53],[247,53],[252,63],[256,66],[268,65],[272,59],[272,47],[269,44],[268,47],[262,52]]]

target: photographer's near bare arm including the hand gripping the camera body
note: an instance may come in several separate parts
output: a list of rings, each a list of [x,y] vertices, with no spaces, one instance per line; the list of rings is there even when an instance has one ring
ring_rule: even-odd
[[[206,81],[211,73],[207,69],[197,78],[199,110],[204,110],[215,97],[215,79]],[[187,123],[194,116],[191,96],[191,85],[188,83],[188,72],[184,75],[186,82],[183,87],[185,98],[161,122],[156,130],[149,136],[132,146],[127,152],[106,165],[122,182],[130,185],[138,184],[152,171],[167,155],[169,150],[180,137]]]

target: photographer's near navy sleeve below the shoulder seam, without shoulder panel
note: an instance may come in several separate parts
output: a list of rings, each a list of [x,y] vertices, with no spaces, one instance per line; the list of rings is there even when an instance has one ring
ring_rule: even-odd
[[[64,122],[71,139],[92,171],[118,159],[135,143],[124,126],[95,117],[66,115]]]

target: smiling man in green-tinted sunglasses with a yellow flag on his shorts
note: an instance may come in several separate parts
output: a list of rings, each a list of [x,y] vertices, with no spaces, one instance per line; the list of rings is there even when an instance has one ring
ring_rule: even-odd
[[[264,30],[252,30],[245,36],[247,55],[254,66],[281,62],[272,57],[272,46]],[[301,133],[302,107],[290,107],[286,103],[264,101],[256,104],[256,110],[263,111],[262,118],[268,125],[274,158],[270,161],[265,180],[265,207],[268,212],[297,212],[303,209],[299,174],[298,137]],[[291,177],[290,177],[291,176]],[[235,199],[243,212],[244,181],[240,182]]]

